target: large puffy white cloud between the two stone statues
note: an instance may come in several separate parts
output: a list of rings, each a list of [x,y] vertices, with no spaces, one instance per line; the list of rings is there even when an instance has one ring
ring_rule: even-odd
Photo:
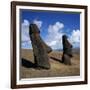
[[[48,35],[46,37],[46,43],[53,49],[62,48],[62,29],[64,24],[61,22],[56,22],[54,25],[49,25]]]

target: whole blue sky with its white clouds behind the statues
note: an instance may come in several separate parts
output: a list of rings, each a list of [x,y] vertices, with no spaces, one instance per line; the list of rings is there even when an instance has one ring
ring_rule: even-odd
[[[42,39],[53,49],[62,49],[66,34],[73,47],[80,47],[80,13],[20,10],[21,48],[32,48],[29,24],[35,23]]]

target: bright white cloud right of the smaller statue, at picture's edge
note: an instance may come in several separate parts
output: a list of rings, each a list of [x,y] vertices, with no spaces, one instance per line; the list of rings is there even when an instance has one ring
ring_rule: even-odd
[[[80,30],[73,30],[69,40],[74,47],[78,47],[80,44]]]

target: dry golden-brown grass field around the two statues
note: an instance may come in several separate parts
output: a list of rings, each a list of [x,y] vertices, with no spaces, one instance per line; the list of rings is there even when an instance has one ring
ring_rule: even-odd
[[[49,70],[45,69],[36,69],[33,67],[34,57],[32,50],[22,49],[21,58],[27,60],[31,63],[31,67],[20,66],[20,77],[21,78],[37,78],[37,77],[56,77],[56,76],[77,76],[80,75],[80,55],[77,53],[73,54],[71,59],[72,65],[65,65],[60,63],[62,58],[62,51],[52,51],[49,54],[51,68]],[[22,59],[21,59],[22,60]]]

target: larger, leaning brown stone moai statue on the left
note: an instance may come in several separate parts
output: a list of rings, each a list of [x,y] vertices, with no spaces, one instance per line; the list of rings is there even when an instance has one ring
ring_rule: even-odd
[[[49,69],[49,57],[48,53],[52,49],[45,44],[45,42],[40,37],[40,30],[36,24],[30,24],[29,26],[29,35],[32,42],[34,61],[37,68]]]

